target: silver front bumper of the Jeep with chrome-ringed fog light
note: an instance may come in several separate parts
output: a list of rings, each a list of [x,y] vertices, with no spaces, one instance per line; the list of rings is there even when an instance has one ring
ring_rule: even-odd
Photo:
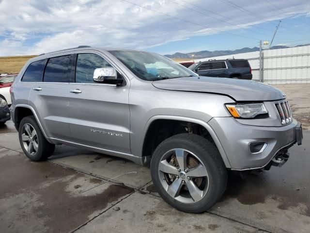
[[[288,149],[302,143],[302,127],[296,120],[282,127],[259,127],[240,124],[233,117],[214,117],[208,124],[217,134],[232,170],[282,166],[288,160]],[[251,151],[251,143],[264,146]]]

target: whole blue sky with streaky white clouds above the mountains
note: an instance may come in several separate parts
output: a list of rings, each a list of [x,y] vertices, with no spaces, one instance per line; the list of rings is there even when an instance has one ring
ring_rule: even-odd
[[[79,45],[172,54],[310,43],[310,0],[0,0],[0,56]]]

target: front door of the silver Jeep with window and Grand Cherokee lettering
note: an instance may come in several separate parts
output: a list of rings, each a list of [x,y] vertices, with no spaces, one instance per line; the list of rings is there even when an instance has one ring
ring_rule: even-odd
[[[124,86],[93,82],[96,68],[112,67],[96,53],[75,54],[69,84],[72,140],[109,150],[130,152],[129,81]],[[118,74],[121,75],[121,74]]]

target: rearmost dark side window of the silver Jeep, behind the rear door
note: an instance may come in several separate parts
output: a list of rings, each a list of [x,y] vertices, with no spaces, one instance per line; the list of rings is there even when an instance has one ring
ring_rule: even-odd
[[[42,82],[45,60],[32,62],[26,69],[21,82]]]

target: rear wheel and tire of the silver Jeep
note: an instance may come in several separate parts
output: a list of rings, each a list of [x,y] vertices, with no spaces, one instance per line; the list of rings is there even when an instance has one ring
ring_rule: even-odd
[[[29,137],[29,134],[33,137]],[[46,160],[54,153],[55,145],[47,142],[34,116],[26,116],[21,120],[18,136],[22,150],[32,161]]]

